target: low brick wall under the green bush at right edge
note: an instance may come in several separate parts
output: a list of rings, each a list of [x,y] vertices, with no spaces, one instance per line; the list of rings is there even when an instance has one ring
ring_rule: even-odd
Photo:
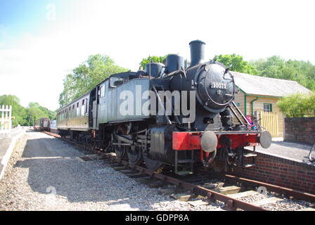
[[[285,118],[285,141],[315,142],[315,117]]]

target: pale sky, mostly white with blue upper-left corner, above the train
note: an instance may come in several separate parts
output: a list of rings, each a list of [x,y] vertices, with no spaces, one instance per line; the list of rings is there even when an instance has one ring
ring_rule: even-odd
[[[206,42],[207,59],[236,53],[315,64],[315,2],[0,0],[0,95],[56,110],[63,79],[90,55],[136,71],[142,58]]]

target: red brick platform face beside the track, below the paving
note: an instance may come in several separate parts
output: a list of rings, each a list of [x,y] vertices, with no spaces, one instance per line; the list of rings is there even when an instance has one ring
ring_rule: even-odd
[[[245,163],[251,162],[251,160],[245,160]],[[224,172],[224,162],[215,162],[213,168]],[[233,167],[226,174],[315,194],[315,165],[276,155],[257,152],[255,167]]]

